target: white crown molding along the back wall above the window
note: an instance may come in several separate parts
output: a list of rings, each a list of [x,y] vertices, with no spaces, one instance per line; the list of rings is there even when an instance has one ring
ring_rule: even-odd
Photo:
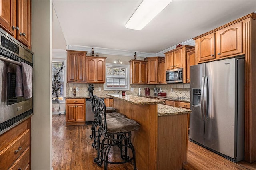
[[[122,56],[129,56],[133,57],[135,51],[126,51],[126,50],[120,50],[120,49],[108,49],[108,48],[99,48],[99,47],[87,47],[87,46],[80,46],[80,45],[67,45],[67,49],[69,50],[77,50],[77,51],[87,51],[89,54],[92,51],[92,48],[94,50],[94,55],[97,53],[99,54],[108,54],[108,55],[122,55]],[[154,57],[156,56],[155,53],[144,53],[144,52],[137,52],[137,57]]]

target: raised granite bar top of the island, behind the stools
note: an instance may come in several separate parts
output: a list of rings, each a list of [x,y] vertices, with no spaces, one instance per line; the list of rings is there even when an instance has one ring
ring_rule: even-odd
[[[106,94],[106,95],[111,96],[115,99],[127,101],[134,105],[150,105],[150,104],[164,103],[164,100],[150,99],[150,98],[134,96],[134,95],[125,95],[125,96],[122,96],[122,94]]]

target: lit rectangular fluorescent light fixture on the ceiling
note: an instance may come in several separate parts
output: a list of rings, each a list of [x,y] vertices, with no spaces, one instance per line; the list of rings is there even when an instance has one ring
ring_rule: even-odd
[[[141,30],[157,16],[172,0],[144,0],[125,24],[126,28]]]

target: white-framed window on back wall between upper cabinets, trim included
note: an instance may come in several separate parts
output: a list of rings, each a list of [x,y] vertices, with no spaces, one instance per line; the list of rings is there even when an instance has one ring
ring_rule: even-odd
[[[106,63],[104,90],[129,90],[129,65]]]

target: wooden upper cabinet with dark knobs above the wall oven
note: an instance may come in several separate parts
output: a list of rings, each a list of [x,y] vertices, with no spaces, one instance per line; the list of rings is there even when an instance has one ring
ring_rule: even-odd
[[[0,26],[30,48],[31,1],[1,0]]]

